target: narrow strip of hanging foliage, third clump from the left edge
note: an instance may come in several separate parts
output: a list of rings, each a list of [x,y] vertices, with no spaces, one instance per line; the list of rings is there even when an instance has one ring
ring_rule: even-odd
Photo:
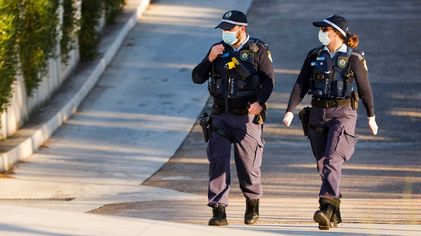
[[[75,49],[77,29],[79,20],[77,19],[77,0],[63,0],[63,37],[60,41],[61,62],[66,66],[70,60],[70,51]]]

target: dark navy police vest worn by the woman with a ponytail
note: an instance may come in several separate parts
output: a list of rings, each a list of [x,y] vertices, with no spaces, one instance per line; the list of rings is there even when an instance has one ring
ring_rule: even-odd
[[[352,47],[346,47],[346,52],[336,52],[333,58],[323,47],[316,48],[311,56],[311,68],[309,94],[315,98],[345,98],[351,97],[354,73],[350,70],[349,57]]]

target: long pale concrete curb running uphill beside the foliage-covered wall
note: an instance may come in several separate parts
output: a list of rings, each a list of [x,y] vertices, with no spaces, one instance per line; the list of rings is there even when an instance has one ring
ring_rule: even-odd
[[[131,29],[136,25],[137,20],[141,18],[146,8],[149,6],[150,0],[141,0],[136,8],[135,13],[128,19],[123,28],[120,29],[118,36],[115,38],[103,58],[99,60],[95,69],[88,77],[79,91],[61,108],[49,121],[41,126],[34,134],[26,138],[13,149],[1,155],[0,172],[9,170],[14,163],[31,156],[45,141],[47,141],[54,131],[56,131],[67,119],[69,119],[77,110],[80,103],[85,99],[86,95],[91,91],[95,84],[99,81],[107,68],[108,64],[117,54],[120,46]]]

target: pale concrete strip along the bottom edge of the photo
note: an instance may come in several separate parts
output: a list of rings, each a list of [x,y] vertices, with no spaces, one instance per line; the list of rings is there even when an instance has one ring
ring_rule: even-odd
[[[419,236],[419,225],[344,224],[320,231],[317,224],[209,227],[0,205],[0,235],[7,236]],[[246,230],[245,230],[246,229]]]

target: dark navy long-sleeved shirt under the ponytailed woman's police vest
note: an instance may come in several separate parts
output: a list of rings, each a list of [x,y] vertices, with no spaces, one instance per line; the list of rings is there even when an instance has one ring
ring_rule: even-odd
[[[341,50],[341,48],[339,48],[339,50]],[[325,47],[324,50],[327,50],[327,47]],[[311,53],[313,51],[314,49],[309,52],[306,60],[304,61],[303,67],[301,67],[300,74],[298,75],[297,81],[291,92],[286,112],[294,112],[298,103],[300,103],[307,92],[309,92],[310,76],[313,73],[310,61]],[[349,63],[351,63],[351,71],[354,71],[354,80],[357,84],[358,96],[367,110],[367,116],[372,117],[374,116],[373,92],[371,91],[370,82],[368,81],[368,69],[365,63],[364,52],[361,50],[353,50],[351,56],[349,57]]]

